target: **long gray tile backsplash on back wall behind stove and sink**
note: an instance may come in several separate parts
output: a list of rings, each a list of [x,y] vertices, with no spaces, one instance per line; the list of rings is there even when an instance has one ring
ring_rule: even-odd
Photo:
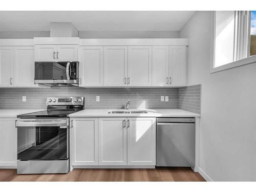
[[[100,101],[96,101],[96,95]],[[168,102],[161,102],[160,96],[169,96]],[[27,101],[22,101],[22,96]],[[87,109],[121,109],[127,99],[130,108],[177,109],[178,88],[79,88],[52,87],[39,88],[4,88],[0,89],[0,109],[46,109],[46,98],[51,96],[83,96]]]

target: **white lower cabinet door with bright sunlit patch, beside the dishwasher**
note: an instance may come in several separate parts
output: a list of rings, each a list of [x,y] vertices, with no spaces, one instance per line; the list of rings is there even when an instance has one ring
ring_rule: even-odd
[[[156,118],[128,118],[127,164],[156,165]]]

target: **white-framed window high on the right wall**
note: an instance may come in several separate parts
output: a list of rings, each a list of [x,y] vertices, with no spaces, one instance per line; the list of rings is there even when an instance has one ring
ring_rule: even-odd
[[[215,11],[211,72],[256,61],[256,11]]]

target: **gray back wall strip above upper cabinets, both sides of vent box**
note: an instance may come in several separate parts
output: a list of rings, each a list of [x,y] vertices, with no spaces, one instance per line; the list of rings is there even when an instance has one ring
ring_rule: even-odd
[[[80,38],[179,38],[178,31],[79,31]],[[50,37],[50,31],[0,31],[2,39]]]

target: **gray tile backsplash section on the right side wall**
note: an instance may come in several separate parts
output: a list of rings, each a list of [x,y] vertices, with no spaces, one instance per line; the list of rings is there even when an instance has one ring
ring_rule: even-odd
[[[179,88],[179,109],[201,113],[201,84]]]

